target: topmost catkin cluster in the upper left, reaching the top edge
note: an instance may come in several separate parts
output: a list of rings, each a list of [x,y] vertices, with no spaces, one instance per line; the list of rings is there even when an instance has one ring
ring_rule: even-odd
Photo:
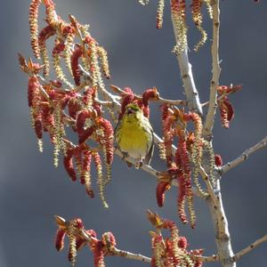
[[[104,76],[109,78],[108,55],[103,47],[93,39],[84,25],[69,15],[70,22],[62,20],[55,12],[52,0],[43,1],[46,18],[45,26],[38,33],[38,8],[42,1],[33,0],[29,10],[30,37],[33,52],[36,58],[41,56],[44,63],[44,77],[49,76],[49,56],[46,40],[55,36],[53,47],[53,69],[56,77],[66,85],[71,85],[61,69],[61,58],[64,59],[67,69],[74,77],[76,85],[80,85],[81,71],[78,68],[79,60],[85,63],[85,69],[93,79],[93,86],[101,84],[100,65]],[[78,39],[80,44],[76,44]]]

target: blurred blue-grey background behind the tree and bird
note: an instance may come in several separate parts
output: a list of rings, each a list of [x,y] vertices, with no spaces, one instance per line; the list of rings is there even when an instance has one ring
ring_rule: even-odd
[[[174,34],[170,8],[166,4],[164,27],[156,29],[157,2],[142,7],[137,0],[55,0],[57,12],[68,19],[71,13],[89,23],[91,34],[109,53],[112,78],[107,85],[131,86],[136,93],[157,86],[166,98],[182,99],[182,83],[176,58],[171,50]],[[168,2],[168,1],[166,1]],[[221,84],[243,84],[243,90],[231,96],[236,116],[229,130],[219,117],[214,126],[214,149],[226,163],[259,142],[267,133],[267,3],[252,0],[222,1],[220,59]],[[1,154],[0,154],[0,266],[69,266],[67,250],[58,253],[53,239],[57,227],[54,214],[66,219],[81,217],[88,229],[101,235],[112,231],[117,247],[150,255],[153,230],[146,219],[150,208],[174,220],[180,234],[188,237],[190,248],[204,248],[205,255],[215,253],[214,228],[206,203],[196,199],[198,223],[195,230],[182,225],[176,214],[177,190],[166,194],[166,203],[158,208],[156,180],[149,174],[128,169],[115,158],[113,181],[106,190],[109,209],[98,196],[87,198],[78,182],[70,182],[62,165],[53,167],[53,151],[44,138],[44,152],[36,147],[29,124],[27,81],[18,66],[17,53],[33,56],[29,48],[28,0],[3,1],[1,4]],[[42,19],[40,19],[42,20]],[[190,61],[202,102],[207,101],[211,77],[210,40],[198,53],[193,46],[199,33],[189,21]],[[205,28],[211,38],[210,20]],[[152,104],[151,124],[161,134],[158,106]],[[229,220],[235,252],[267,233],[267,150],[260,150],[225,174],[222,179],[223,204]],[[153,158],[152,166],[164,170],[165,164]],[[94,183],[94,188],[96,185]],[[238,266],[266,266],[263,244],[244,256]],[[109,257],[107,266],[149,266],[124,258]],[[205,266],[219,266],[217,263]],[[93,266],[91,252],[83,249],[77,266]]]

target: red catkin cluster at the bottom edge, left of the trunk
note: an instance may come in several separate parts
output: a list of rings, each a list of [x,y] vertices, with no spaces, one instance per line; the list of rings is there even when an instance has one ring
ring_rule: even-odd
[[[179,236],[179,231],[173,221],[162,219],[158,214],[147,212],[150,223],[157,232],[150,231],[152,258],[151,267],[185,266],[199,267],[202,262],[192,255],[201,255],[203,250],[188,251],[188,242],[185,237]],[[170,231],[170,236],[164,238],[161,231]]]

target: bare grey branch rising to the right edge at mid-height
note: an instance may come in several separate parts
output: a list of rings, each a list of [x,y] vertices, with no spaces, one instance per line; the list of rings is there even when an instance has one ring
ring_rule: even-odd
[[[262,141],[256,143],[253,147],[251,147],[250,149],[244,151],[239,156],[239,158],[235,158],[231,162],[229,162],[229,163],[223,165],[221,168],[219,168],[219,172],[221,174],[225,174],[226,172],[228,172],[229,170],[231,170],[231,168],[233,168],[235,166],[238,166],[240,163],[242,163],[245,160],[247,160],[247,158],[251,154],[255,153],[255,151],[263,149],[266,145],[267,145],[267,135],[263,138]]]

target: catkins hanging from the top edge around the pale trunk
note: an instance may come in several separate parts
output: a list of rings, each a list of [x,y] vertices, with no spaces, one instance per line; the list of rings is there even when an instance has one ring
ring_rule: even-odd
[[[157,9],[157,28],[162,28],[163,25],[163,13],[166,0],[158,0]],[[149,1],[139,1],[140,4],[148,4]],[[209,17],[213,18],[213,9],[211,0],[192,0],[190,9],[192,13],[192,20],[200,32],[201,38],[198,44],[195,44],[194,50],[198,52],[198,49],[206,43],[207,35],[206,30],[202,27],[203,12],[201,10],[202,4],[206,4]],[[174,30],[177,35],[177,44],[174,46],[174,53],[181,54],[187,49],[187,25],[186,25],[186,1],[185,0],[171,0],[171,14],[174,22]]]

